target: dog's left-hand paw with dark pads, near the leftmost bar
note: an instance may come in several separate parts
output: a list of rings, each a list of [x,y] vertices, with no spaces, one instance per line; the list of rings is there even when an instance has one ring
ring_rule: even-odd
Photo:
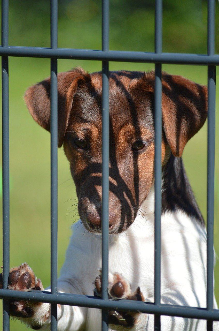
[[[0,275],[0,288],[2,288],[2,274]],[[8,276],[8,289],[28,292],[31,290],[43,291],[40,279],[37,279],[33,270],[27,263],[22,263],[19,267],[10,269]],[[43,303],[11,300],[9,304],[10,315],[17,318],[24,318],[30,326],[37,330],[49,317],[49,311],[44,314]],[[40,316],[43,314],[42,316]]]

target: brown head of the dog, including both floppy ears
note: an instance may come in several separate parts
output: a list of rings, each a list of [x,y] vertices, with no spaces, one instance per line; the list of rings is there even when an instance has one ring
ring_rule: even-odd
[[[163,74],[161,160],[181,156],[203,125],[206,88]],[[119,71],[109,77],[109,232],[126,230],[153,185],[154,73]],[[59,147],[70,163],[84,226],[101,232],[102,75],[75,69],[58,77]],[[33,118],[50,126],[50,80],[29,88],[25,101]],[[104,134],[104,132],[103,132]]]

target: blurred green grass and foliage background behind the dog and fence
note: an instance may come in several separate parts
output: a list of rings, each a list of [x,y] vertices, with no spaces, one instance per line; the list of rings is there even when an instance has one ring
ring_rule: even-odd
[[[218,3],[216,2],[218,13]],[[9,44],[50,47],[50,1],[10,0]],[[163,1],[163,51],[206,53],[207,2],[201,0]],[[58,46],[101,49],[101,1],[60,0]],[[154,1],[110,1],[110,49],[154,51]],[[218,53],[218,16],[216,18]],[[82,66],[92,72],[101,70],[96,61],[58,60],[58,70]],[[110,63],[110,70],[142,70],[152,64]],[[207,83],[204,66],[164,65],[163,70],[181,74],[201,84]],[[10,58],[10,265],[26,261],[42,279],[50,283],[50,135],[40,128],[23,102],[26,88],[50,75],[48,59]],[[217,83],[218,71],[217,71]],[[218,100],[217,87],[217,100]],[[216,109],[215,151],[215,250],[219,253],[219,111]],[[198,205],[206,219],[206,124],[187,144],[183,159]],[[73,221],[75,187],[63,149],[59,161],[58,266],[65,257]],[[1,184],[1,183],[0,183]],[[1,233],[0,233],[1,235]],[[0,236],[1,238],[1,236]],[[219,303],[219,261],[215,266],[215,294]],[[1,318],[1,314],[0,314]],[[0,321],[0,330],[2,322]],[[11,321],[11,330],[26,330]]]

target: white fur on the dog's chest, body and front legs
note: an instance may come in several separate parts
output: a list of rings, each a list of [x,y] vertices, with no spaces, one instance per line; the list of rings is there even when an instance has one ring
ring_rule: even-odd
[[[109,272],[122,274],[133,290],[140,286],[145,301],[154,295],[154,192],[125,232],[109,237]],[[144,216],[143,216],[144,215]],[[166,212],[161,217],[161,303],[206,307],[206,231],[184,212]],[[81,220],[73,227],[58,291],[93,295],[92,282],[101,268],[101,237],[85,231]],[[45,308],[38,307],[38,321]],[[217,304],[214,301],[214,308]],[[41,330],[50,329],[49,319]],[[123,330],[121,327],[110,330]],[[206,321],[161,316],[163,331],[204,331]],[[214,322],[214,330],[218,330]],[[101,312],[93,308],[58,307],[59,331],[100,331]],[[124,329],[125,330],[125,329]],[[135,331],[153,330],[153,315],[140,314]]]

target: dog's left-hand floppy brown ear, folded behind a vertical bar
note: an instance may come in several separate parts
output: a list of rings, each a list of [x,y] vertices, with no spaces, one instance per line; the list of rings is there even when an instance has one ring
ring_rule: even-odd
[[[81,68],[58,74],[58,147],[61,147],[64,141],[78,84],[89,77]],[[33,119],[50,131],[50,77],[29,87],[24,100]]]

